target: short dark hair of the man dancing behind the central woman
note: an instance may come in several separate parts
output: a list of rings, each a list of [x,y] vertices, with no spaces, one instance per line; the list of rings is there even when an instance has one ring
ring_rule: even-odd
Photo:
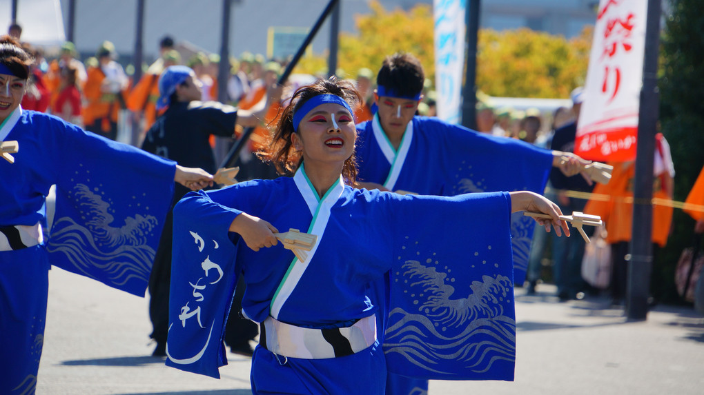
[[[386,56],[377,74],[377,85],[391,89],[399,96],[416,96],[422,92],[424,82],[423,66],[410,53]]]

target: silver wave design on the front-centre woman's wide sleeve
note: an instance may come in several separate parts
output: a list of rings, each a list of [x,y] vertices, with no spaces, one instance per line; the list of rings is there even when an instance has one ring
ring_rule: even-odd
[[[505,276],[483,276],[470,285],[467,297],[452,299],[455,288],[447,273],[418,261],[406,261],[403,277],[418,299],[418,311],[396,308],[389,313],[384,352],[398,353],[434,373],[443,361],[464,363],[474,373],[488,371],[496,361],[515,360],[515,320],[500,302],[513,296]],[[409,291],[410,292],[410,291]]]

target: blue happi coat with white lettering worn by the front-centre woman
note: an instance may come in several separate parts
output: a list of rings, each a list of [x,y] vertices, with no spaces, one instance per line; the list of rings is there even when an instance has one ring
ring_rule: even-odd
[[[227,232],[241,212],[281,232],[318,235],[317,244],[303,266],[280,244],[253,252]],[[368,287],[390,272],[390,287],[402,291],[390,301],[389,370],[513,380],[509,218],[507,193],[401,196],[340,180],[319,199],[303,168],[293,178],[191,193],[174,210],[167,365],[219,377],[237,276],[246,281],[242,306],[252,320],[271,315],[306,328],[339,328],[377,312]],[[386,370],[377,346],[342,358],[288,358],[290,380],[272,355],[255,351],[255,392],[301,382],[301,391],[313,393],[351,393],[361,385],[365,394],[383,394]]]

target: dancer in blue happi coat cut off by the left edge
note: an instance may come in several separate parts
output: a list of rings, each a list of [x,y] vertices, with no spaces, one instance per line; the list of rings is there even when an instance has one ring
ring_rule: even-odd
[[[51,265],[144,296],[174,181],[212,183],[201,169],[23,110],[32,61],[0,37],[0,394],[34,394]]]

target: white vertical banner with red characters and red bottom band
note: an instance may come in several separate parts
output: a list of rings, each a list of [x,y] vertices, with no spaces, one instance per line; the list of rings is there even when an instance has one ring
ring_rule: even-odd
[[[647,11],[645,0],[599,2],[577,125],[577,155],[614,162],[636,157]]]

